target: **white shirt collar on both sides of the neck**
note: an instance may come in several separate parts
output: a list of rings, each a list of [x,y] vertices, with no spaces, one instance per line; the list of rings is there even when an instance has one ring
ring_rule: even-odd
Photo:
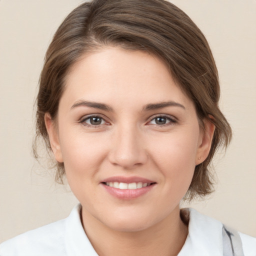
[[[81,205],[76,205],[65,219],[65,245],[68,256],[98,256],[87,238],[81,221]],[[178,256],[219,256],[222,249],[221,222],[200,214],[192,208],[183,209],[189,214],[188,235]]]

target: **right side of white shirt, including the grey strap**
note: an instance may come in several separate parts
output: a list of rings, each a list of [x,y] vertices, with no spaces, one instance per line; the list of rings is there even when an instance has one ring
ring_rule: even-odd
[[[181,209],[180,216],[187,219],[188,236],[179,256],[225,255],[232,246],[243,250],[244,256],[256,256],[256,238],[226,229],[220,221],[192,208]]]

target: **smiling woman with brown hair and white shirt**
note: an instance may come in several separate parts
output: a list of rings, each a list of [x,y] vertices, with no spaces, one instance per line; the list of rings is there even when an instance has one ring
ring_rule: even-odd
[[[212,191],[207,166],[230,141],[218,99],[208,43],[173,4],[78,6],[45,56],[37,135],[80,204],[0,255],[254,255],[254,238],[179,209]]]

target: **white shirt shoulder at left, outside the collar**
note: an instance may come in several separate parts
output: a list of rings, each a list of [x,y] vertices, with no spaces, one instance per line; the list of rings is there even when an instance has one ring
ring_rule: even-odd
[[[0,255],[65,255],[65,220],[27,231],[0,244]]]

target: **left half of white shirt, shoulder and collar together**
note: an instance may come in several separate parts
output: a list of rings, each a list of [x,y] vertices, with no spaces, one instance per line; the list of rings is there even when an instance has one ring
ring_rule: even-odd
[[[0,244],[0,256],[96,256],[80,220],[81,205],[69,216]]]

